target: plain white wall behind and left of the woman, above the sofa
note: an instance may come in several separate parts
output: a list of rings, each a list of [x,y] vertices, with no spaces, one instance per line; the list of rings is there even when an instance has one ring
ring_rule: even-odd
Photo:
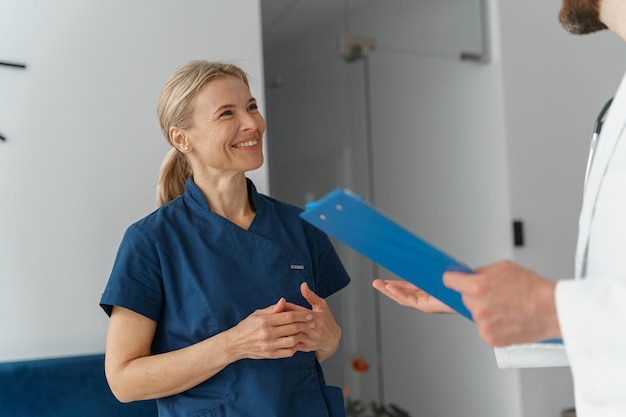
[[[161,87],[228,60],[264,103],[258,0],[0,1],[0,360],[102,352],[124,229],[154,210]],[[266,169],[251,173],[267,191]]]

